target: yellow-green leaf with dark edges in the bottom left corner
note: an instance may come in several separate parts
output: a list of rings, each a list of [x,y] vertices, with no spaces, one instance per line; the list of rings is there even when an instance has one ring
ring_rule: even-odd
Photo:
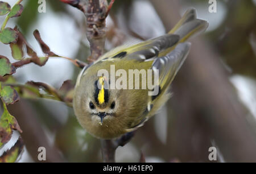
[[[23,140],[21,137],[19,137],[14,146],[11,147],[10,150],[3,152],[3,154],[0,156],[0,163],[14,163],[22,152],[23,147]]]

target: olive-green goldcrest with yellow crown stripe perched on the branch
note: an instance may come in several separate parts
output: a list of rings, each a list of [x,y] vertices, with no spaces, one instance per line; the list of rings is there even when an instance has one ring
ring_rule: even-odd
[[[189,9],[168,34],[130,47],[121,46],[102,55],[82,69],[77,78],[73,98],[75,115],[82,127],[101,139],[113,139],[138,129],[170,98],[170,86],[186,59],[191,36],[203,32],[208,22],[196,18],[196,10]],[[158,94],[149,96],[149,89],[111,89],[110,77],[98,76],[110,66],[123,69],[157,69]],[[129,82],[130,77],[126,82]],[[114,81],[115,82],[115,81]],[[136,81],[135,81],[136,82]],[[134,83],[135,83],[134,82]]]

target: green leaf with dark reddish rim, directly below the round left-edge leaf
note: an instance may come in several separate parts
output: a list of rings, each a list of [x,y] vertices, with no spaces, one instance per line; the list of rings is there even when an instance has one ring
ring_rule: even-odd
[[[10,63],[9,59],[0,55],[0,76],[15,73],[15,67]]]

